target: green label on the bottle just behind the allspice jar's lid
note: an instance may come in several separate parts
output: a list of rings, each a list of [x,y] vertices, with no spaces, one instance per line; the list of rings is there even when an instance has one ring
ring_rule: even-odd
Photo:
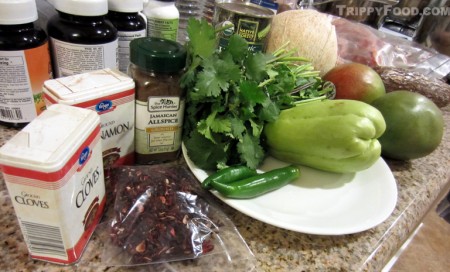
[[[179,19],[147,18],[147,36],[177,40]]]

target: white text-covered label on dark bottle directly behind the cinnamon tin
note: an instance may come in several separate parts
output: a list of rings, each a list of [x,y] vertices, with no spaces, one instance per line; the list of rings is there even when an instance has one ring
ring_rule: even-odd
[[[55,77],[105,68],[118,69],[118,39],[104,44],[74,44],[50,38]]]

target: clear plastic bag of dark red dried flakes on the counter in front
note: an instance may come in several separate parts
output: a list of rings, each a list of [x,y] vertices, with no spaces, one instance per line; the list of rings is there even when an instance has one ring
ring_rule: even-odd
[[[92,252],[85,253],[80,266],[120,271],[255,269],[255,257],[233,222],[186,166],[118,166],[112,169],[109,188],[114,201],[95,231],[92,243],[97,245],[89,247]]]

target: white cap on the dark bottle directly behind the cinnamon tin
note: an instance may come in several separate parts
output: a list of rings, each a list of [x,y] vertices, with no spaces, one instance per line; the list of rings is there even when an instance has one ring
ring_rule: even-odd
[[[108,0],[54,0],[55,9],[78,16],[102,16],[108,14]]]

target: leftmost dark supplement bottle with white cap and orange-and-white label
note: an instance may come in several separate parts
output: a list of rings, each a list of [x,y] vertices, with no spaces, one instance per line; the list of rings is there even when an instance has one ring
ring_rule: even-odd
[[[50,79],[47,34],[35,22],[35,0],[0,0],[0,124],[22,128],[43,110]]]

